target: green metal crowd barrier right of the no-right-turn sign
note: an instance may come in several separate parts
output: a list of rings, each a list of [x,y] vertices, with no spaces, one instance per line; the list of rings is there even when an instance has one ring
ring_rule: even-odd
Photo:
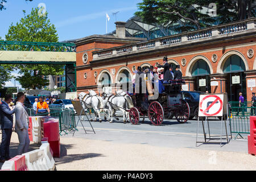
[[[230,133],[232,138],[232,133],[236,134],[236,139],[238,135],[242,137],[242,134],[250,134],[250,116],[256,115],[256,107],[253,106],[253,102],[229,102],[229,125]],[[243,138],[243,137],[242,137]]]

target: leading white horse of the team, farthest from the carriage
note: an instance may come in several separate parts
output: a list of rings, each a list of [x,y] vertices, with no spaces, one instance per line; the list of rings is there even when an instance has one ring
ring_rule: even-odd
[[[103,100],[102,97],[97,96],[96,92],[93,90],[89,90],[89,94],[81,92],[79,94],[79,100],[81,101],[82,107],[84,110],[94,109],[95,118],[94,121],[97,121],[97,117],[102,121],[100,117],[100,111],[103,109]],[[89,112],[90,115],[90,112]],[[82,120],[84,120],[84,116],[82,116]],[[90,121],[93,121],[92,116],[90,115]]]

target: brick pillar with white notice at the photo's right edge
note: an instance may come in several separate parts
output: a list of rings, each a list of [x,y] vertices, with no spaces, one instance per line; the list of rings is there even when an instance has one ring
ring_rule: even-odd
[[[256,71],[248,71],[246,74],[246,97],[247,101],[251,101],[251,97],[253,96],[253,92],[256,93],[256,87],[253,85],[254,81],[256,82]],[[248,85],[249,84],[249,85]],[[250,86],[250,87],[248,87]]]

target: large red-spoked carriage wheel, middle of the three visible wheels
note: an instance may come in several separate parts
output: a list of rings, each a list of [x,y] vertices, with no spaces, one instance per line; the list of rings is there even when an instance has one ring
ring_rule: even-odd
[[[156,101],[151,102],[150,106],[148,107],[147,115],[153,125],[161,125],[164,118],[164,110],[162,105]]]

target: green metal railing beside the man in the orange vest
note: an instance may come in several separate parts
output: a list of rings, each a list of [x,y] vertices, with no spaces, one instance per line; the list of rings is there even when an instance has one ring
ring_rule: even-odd
[[[30,116],[47,116],[48,114],[34,114],[32,109],[28,109],[28,115]],[[32,114],[33,113],[33,114]],[[60,135],[68,134],[67,131],[77,130],[76,129],[76,118],[74,110],[60,110],[51,109],[50,117],[59,119]]]

